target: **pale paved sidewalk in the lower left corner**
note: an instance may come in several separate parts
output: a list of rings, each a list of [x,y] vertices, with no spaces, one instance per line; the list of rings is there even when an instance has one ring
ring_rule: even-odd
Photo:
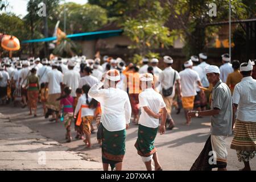
[[[82,152],[67,150],[0,113],[0,170],[102,170]]]

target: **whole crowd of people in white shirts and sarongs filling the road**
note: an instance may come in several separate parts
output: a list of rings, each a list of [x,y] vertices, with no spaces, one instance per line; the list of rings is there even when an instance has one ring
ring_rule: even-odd
[[[142,67],[121,58],[85,56],[52,60],[2,59],[0,64],[1,104],[26,107],[37,117],[37,105],[43,106],[44,117],[63,122],[65,138],[72,142],[71,126],[76,139],[91,148],[90,135],[96,122],[97,139],[102,148],[104,170],[121,170],[125,155],[126,129],[131,118],[138,125],[135,148],[147,170],[162,170],[154,140],[158,131],[172,130],[173,106],[184,110],[184,125],[193,117],[211,117],[210,137],[191,170],[226,170],[228,152],[225,138],[232,134],[231,148],[238,160],[250,170],[249,161],[256,154],[256,66],[253,61],[240,64],[221,56],[223,65],[208,64],[205,53],[191,56],[183,71],[172,68],[174,60],[164,56],[164,69],[156,58],[143,58]],[[232,62],[232,64],[231,64]],[[131,117],[133,115],[133,117]],[[159,123],[160,121],[160,123]],[[235,126],[235,127],[234,127]],[[85,138],[84,138],[85,137]],[[214,162],[209,163],[209,152]]]

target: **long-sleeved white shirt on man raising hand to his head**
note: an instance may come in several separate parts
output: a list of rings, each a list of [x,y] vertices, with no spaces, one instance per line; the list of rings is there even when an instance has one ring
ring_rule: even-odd
[[[130,123],[131,104],[128,94],[118,88],[100,89],[101,81],[89,90],[89,96],[101,104],[101,123],[108,131],[120,131]]]

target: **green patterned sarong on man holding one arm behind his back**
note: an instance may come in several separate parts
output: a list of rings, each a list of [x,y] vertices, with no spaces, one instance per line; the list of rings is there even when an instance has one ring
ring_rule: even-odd
[[[134,145],[137,148],[139,155],[148,157],[155,154],[156,148],[154,146],[154,142],[157,133],[158,127],[154,129],[151,127],[139,125],[138,139]]]

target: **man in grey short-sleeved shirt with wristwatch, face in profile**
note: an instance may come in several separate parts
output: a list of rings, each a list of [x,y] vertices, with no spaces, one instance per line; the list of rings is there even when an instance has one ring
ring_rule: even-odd
[[[205,71],[210,84],[213,84],[210,110],[190,111],[188,117],[211,116],[211,131],[191,170],[218,168],[218,171],[226,171],[228,151],[225,139],[232,134],[232,96],[228,85],[220,80],[218,67],[210,65]]]

